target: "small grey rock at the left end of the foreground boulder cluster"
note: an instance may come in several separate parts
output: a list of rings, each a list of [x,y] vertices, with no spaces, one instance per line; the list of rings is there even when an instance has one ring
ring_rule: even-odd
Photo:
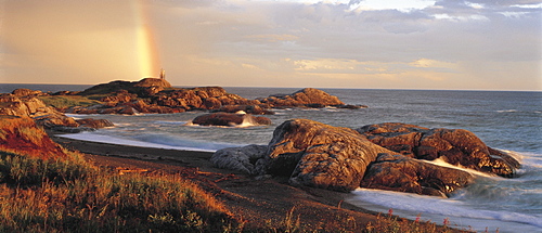
[[[255,164],[266,155],[267,145],[247,145],[243,147],[222,148],[217,151],[210,161],[218,168],[228,168],[249,174],[258,173]]]

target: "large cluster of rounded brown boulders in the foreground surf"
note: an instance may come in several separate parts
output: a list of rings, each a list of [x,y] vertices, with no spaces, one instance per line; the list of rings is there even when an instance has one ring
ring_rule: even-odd
[[[292,119],[276,127],[269,145],[220,150],[211,161],[250,174],[285,176],[292,185],[334,191],[362,186],[435,196],[449,196],[474,182],[474,176],[418,157],[422,148],[433,152],[420,146],[439,148],[438,158],[463,167],[487,159],[485,163],[490,165],[478,169],[486,172],[503,171],[503,165],[509,166],[506,169],[519,166],[513,157],[499,156],[499,151],[487,147],[466,130],[382,124],[358,131]],[[462,154],[453,154],[457,150]],[[483,153],[489,157],[481,156]]]

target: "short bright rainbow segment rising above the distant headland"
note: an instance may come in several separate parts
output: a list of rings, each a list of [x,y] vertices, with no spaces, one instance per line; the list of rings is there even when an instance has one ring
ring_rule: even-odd
[[[160,61],[154,40],[153,27],[150,25],[149,11],[144,0],[137,2],[137,53],[141,77],[154,77],[160,72]]]

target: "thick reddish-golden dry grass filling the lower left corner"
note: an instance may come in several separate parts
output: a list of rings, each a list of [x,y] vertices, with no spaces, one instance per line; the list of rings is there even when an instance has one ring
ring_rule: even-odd
[[[73,160],[1,153],[0,232],[220,232],[237,225],[212,196],[180,178],[120,176]]]

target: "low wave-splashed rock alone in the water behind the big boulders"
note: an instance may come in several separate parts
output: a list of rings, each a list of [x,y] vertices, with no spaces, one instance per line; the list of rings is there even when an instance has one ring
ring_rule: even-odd
[[[271,120],[250,114],[211,113],[194,118],[192,124],[199,126],[267,126],[271,125]]]

